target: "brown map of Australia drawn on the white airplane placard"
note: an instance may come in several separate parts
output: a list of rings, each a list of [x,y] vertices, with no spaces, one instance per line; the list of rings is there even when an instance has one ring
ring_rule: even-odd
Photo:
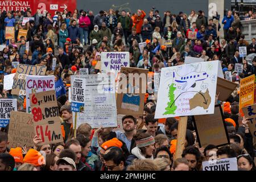
[[[191,100],[189,100],[189,106],[190,109],[195,109],[196,107],[203,107],[204,109],[208,109],[210,105],[210,94],[209,90],[207,89],[207,92],[202,93],[201,91],[199,93],[196,93]]]

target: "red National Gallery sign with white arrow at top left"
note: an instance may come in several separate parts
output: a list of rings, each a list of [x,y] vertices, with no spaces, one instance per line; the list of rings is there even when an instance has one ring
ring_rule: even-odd
[[[0,9],[2,11],[26,11],[30,7],[32,14],[36,13],[36,10],[40,10],[40,14],[44,11],[48,11],[53,16],[55,11],[73,11],[76,9],[76,0],[1,0]]]

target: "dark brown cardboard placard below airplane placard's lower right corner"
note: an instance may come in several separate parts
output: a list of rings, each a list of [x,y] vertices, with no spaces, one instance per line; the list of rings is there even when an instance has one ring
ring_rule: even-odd
[[[215,105],[214,114],[195,115],[193,124],[200,148],[205,148],[209,144],[214,144],[217,147],[229,144],[229,135],[225,127],[221,105]]]

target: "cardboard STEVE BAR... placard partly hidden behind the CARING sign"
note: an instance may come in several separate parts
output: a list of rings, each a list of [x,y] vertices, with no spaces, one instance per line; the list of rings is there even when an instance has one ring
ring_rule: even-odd
[[[13,89],[11,94],[13,95],[26,95],[26,76],[27,75],[46,75],[47,67],[40,67],[27,64],[19,64],[14,76]]]

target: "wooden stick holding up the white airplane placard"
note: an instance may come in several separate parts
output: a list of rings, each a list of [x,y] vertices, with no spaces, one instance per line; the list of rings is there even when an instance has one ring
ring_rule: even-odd
[[[180,117],[178,130],[177,130],[177,144],[176,144],[176,152],[174,157],[175,160],[178,158],[182,158],[181,155],[185,145],[187,122],[188,122],[187,116]]]

